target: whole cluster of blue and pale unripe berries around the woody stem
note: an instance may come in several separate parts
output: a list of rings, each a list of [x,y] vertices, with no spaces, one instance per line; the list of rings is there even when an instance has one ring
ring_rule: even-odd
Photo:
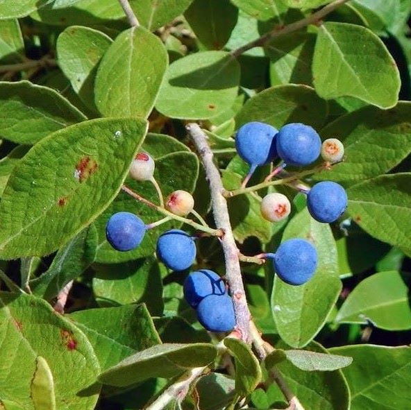
[[[286,166],[307,166],[320,156],[326,164],[342,160],[344,146],[339,140],[326,139],[321,144],[317,132],[302,123],[290,123],[280,130],[265,123],[250,122],[242,126],[235,136],[237,153],[250,166],[250,171],[242,183],[245,186],[258,166],[278,161],[266,178],[267,187],[274,176],[288,178],[295,176],[292,187],[307,194],[308,211],[314,219],[322,223],[336,221],[344,212],[347,196],[344,188],[332,181],[318,182],[312,188],[301,188],[299,173],[287,173]],[[146,230],[160,225],[171,217],[188,221],[184,217],[193,213],[202,223],[205,221],[194,211],[194,199],[186,191],[178,190],[163,201],[160,187],[153,177],[155,162],[147,153],[139,153],[133,160],[130,176],[138,181],[151,181],[160,196],[158,209],[166,214],[165,219],[149,225],[135,214],[118,212],[113,214],[106,225],[106,237],[113,248],[120,251],[133,250],[139,246]],[[241,191],[240,189],[240,191]],[[257,190],[259,188],[255,188]],[[252,188],[247,188],[247,191]],[[285,219],[291,212],[290,200],[278,192],[267,194],[261,199],[260,211],[267,221]],[[157,206],[157,205],[155,205]],[[208,227],[209,228],[209,227]],[[173,271],[186,271],[196,259],[196,237],[179,229],[163,232],[157,241],[158,259]],[[317,250],[305,239],[284,241],[276,253],[258,255],[271,259],[278,277],[287,284],[304,284],[314,275],[317,264]],[[221,277],[208,269],[190,273],[184,282],[183,291],[187,303],[196,310],[199,322],[211,332],[230,332],[235,327],[235,309],[228,287]]]

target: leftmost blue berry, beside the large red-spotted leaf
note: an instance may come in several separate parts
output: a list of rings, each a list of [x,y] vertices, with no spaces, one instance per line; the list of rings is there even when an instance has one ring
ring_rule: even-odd
[[[146,233],[146,225],[131,212],[113,214],[106,225],[106,237],[116,250],[125,252],[137,248]]]

